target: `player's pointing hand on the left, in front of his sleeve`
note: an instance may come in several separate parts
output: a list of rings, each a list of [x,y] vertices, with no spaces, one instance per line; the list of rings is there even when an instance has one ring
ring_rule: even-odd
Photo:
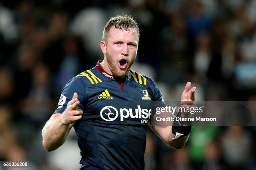
[[[64,124],[69,125],[82,118],[83,111],[77,109],[79,104],[78,94],[74,92],[72,100],[68,102],[66,110],[61,114],[61,121]]]

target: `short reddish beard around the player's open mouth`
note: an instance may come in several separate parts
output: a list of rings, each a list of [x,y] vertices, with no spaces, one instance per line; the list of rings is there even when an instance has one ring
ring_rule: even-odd
[[[106,54],[106,58],[107,58],[109,69],[112,72],[112,74],[115,76],[115,78],[119,80],[123,80],[125,76],[128,75],[128,72],[134,63],[136,56],[133,57],[131,61],[127,60],[128,64],[125,67],[125,69],[122,69],[122,70],[120,70],[120,68],[118,67],[119,60],[115,61],[113,56],[109,55],[108,52]]]

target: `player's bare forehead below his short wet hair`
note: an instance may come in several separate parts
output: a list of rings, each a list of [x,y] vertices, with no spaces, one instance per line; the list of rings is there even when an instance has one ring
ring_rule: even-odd
[[[138,32],[136,32],[136,30],[134,30],[133,28],[130,28],[130,31],[125,31],[115,28],[115,26],[113,26],[110,28],[109,31],[109,40],[138,42]]]

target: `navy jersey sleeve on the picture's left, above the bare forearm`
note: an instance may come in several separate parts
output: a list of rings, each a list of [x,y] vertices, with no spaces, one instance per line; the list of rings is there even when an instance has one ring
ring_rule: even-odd
[[[64,112],[64,110],[67,108],[67,103],[72,100],[74,92],[77,92],[78,100],[80,101],[78,109],[83,110],[86,101],[85,86],[80,77],[73,77],[62,89],[58,102],[58,108],[54,111],[54,114]]]

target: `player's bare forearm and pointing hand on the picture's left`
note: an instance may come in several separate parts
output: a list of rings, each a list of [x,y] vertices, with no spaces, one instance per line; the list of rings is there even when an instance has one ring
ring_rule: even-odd
[[[68,102],[66,110],[62,114],[53,114],[46,122],[42,130],[42,137],[44,148],[47,151],[59,148],[65,142],[74,122],[82,118],[82,110],[77,109],[79,104],[78,94],[75,92],[73,99]]]

